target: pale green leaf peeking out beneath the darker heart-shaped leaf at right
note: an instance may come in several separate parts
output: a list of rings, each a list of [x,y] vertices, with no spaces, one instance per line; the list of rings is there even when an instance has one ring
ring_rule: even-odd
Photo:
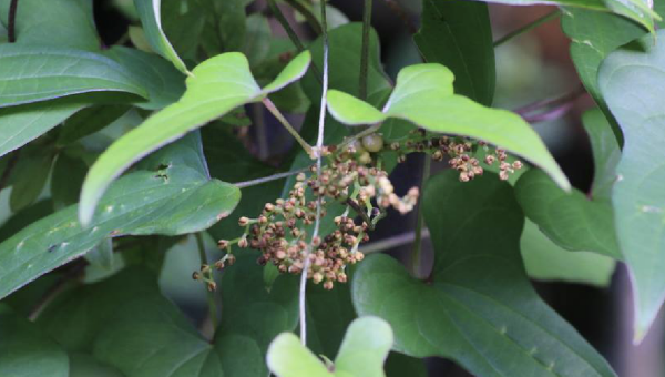
[[[526,220],[520,238],[522,258],[529,277],[545,282],[610,285],[616,263],[591,252],[570,253],[553,243],[538,225]]]

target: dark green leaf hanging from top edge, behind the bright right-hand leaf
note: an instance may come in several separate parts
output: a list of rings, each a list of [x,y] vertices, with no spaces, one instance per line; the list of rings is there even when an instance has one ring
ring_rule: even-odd
[[[497,71],[485,3],[423,0],[422,27],[413,40],[428,63],[443,64],[454,73],[457,93],[492,104]]]

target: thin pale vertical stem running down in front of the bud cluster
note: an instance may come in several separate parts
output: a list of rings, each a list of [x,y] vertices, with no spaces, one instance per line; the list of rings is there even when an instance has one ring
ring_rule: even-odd
[[[318,136],[316,140],[316,169],[317,174],[321,172],[321,150],[324,146],[324,130],[326,125],[326,104],[328,102],[328,26],[326,21],[326,4],[321,3],[321,29],[324,39],[324,78],[321,82],[321,108],[319,112],[319,124],[318,124]],[[316,221],[314,222],[314,232],[311,235],[311,242],[307,248],[305,255],[305,263],[303,264],[303,272],[300,274],[300,291],[298,295],[299,302],[299,315],[300,315],[300,342],[303,346],[307,345],[307,309],[306,309],[306,295],[307,295],[307,272],[309,271],[309,254],[314,247],[314,241],[318,237],[319,227],[321,225],[321,198],[319,197],[316,202]]]

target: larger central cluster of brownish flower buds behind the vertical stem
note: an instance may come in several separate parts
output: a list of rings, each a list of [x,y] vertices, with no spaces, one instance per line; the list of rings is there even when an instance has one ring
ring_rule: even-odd
[[[238,224],[245,227],[245,234],[237,241],[219,241],[219,247],[228,253],[225,257],[231,255],[231,245],[237,243],[260,251],[258,263],[272,263],[283,273],[303,273],[309,258],[307,277],[316,284],[323,282],[326,289],[331,289],[335,282],[345,283],[346,266],[364,258],[358,247],[369,241],[368,232],[386,211],[392,207],[408,213],[419,195],[413,187],[403,197],[398,196],[388,173],[372,165],[369,153],[380,150],[382,140],[362,142],[326,149],[328,163],[320,171],[311,166],[309,176],[298,174],[288,197],[267,203],[257,218],[241,217]],[[335,231],[310,240],[313,224],[317,216],[326,216],[331,202],[345,204],[346,213],[335,217]],[[349,215],[351,211],[357,218]],[[217,267],[224,267],[224,262]]]

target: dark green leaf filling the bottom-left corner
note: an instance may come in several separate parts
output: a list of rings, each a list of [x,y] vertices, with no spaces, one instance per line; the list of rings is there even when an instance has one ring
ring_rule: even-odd
[[[0,375],[69,377],[69,359],[58,344],[0,304]]]

